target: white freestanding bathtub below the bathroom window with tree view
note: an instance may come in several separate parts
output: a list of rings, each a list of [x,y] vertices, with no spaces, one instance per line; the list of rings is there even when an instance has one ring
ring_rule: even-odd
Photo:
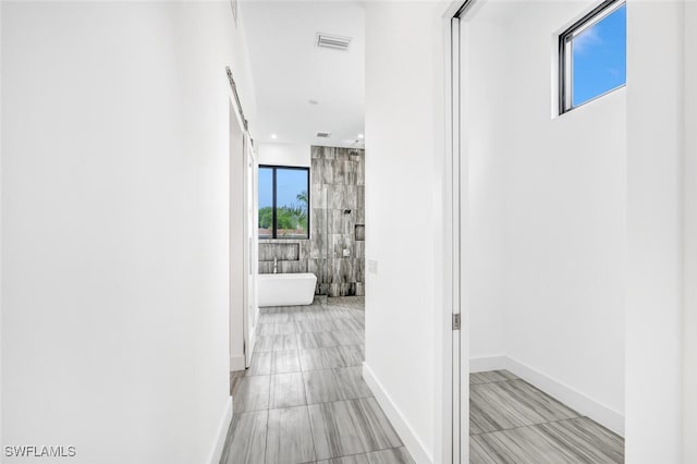
[[[259,307],[303,306],[315,300],[317,276],[306,273],[260,273]]]

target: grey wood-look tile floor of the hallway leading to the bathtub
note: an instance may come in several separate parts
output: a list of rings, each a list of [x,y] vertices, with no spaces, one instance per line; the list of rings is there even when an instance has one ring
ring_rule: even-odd
[[[414,463],[363,380],[360,297],[262,308],[221,464]]]

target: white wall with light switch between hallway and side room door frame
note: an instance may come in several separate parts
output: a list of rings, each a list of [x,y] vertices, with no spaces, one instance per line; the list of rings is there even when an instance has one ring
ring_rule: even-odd
[[[442,262],[442,151],[436,147],[442,149],[444,136],[443,44],[436,7],[431,2],[366,5],[370,227],[364,373],[419,463],[433,462],[439,452],[436,398],[442,375],[435,347],[442,310],[437,266]],[[401,233],[403,228],[418,233]],[[377,272],[370,270],[371,260]]]

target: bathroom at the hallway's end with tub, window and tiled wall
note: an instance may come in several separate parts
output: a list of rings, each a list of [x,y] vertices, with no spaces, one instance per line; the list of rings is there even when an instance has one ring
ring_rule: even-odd
[[[259,306],[310,304],[315,297],[359,301],[365,151],[311,146],[305,166],[274,164],[273,155],[284,148],[259,146]],[[297,276],[289,281],[289,273]]]

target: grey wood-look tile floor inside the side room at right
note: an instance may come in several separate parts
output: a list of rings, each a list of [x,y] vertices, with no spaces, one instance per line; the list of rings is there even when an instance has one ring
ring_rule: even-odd
[[[508,370],[469,376],[470,463],[622,463],[624,440]]]

